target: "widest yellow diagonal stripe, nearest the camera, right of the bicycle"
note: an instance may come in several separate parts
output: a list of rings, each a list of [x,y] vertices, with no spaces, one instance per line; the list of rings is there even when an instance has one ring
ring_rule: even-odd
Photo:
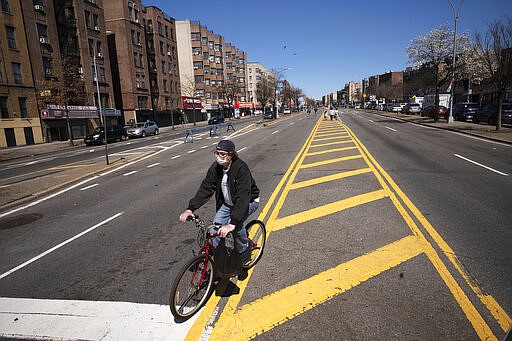
[[[297,317],[365,281],[421,254],[423,244],[408,236],[311,278],[225,311],[210,340],[248,340]],[[350,309],[350,307],[347,307]]]

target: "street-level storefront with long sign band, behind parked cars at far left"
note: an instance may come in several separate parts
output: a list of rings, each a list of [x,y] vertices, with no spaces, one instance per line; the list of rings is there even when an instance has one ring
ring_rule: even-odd
[[[69,140],[68,121],[74,139],[83,138],[101,124],[98,109],[93,106],[49,105],[40,112],[43,135],[46,142]],[[119,124],[121,112],[116,109],[104,110],[108,125]]]

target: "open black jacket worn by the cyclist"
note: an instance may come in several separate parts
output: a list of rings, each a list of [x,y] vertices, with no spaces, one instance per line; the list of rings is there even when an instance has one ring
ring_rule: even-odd
[[[196,195],[190,199],[188,209],[194,212],[203,206],[208,199],[215,193],[217,211],[224,204],[224,195],[222,194],[221,182],[224,176],[223,167],[214,162],[204,178]],[[228,170],[228,183],[233,209],[231,210],[231,224],[237,229],[249,210],[249,203],[260,195],[260,190],[256,186],[251,171],[247,164],[236,155],[233,157],[231,166]]]

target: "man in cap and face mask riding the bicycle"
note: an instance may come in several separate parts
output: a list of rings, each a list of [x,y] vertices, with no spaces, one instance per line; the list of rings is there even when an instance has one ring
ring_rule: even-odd
[[[244,221],[258,208],[260,191],[249,167],[238,157],[232,141],[220,141],[214,154],[215,162],[208,168],[187,210],[180,215],[180,221],[185,222],[215,194],[217,212],[213,222],[222,225],[218,233],[223,238],[234,231],[236,249],[242,262],[245,262],[249,260],[251,250],[248,248]],[[218,242],[214,241],[214,246]]]

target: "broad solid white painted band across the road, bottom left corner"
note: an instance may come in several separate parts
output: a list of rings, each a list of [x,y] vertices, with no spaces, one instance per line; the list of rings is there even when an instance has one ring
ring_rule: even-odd
[[[0,297],[0,306],[0,337],[30,340],[178,341],[200,315],[177,323],[168,305],[131,302]]]

